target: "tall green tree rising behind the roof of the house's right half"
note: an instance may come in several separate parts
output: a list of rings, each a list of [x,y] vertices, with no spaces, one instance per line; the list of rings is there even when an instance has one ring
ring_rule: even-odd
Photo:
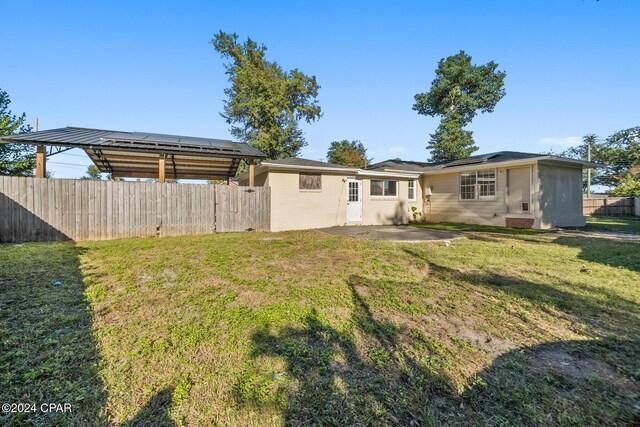
[[[471,60],[462,50],[441,59],[429,92],[415,95],[418,114],[441,118],[427,145],[431,161],[465,158],[477,151],[473,133],[463,128],[478,112],[493,112],[506,93],[506,73],[498,71],[498,64],[473,65]]]

